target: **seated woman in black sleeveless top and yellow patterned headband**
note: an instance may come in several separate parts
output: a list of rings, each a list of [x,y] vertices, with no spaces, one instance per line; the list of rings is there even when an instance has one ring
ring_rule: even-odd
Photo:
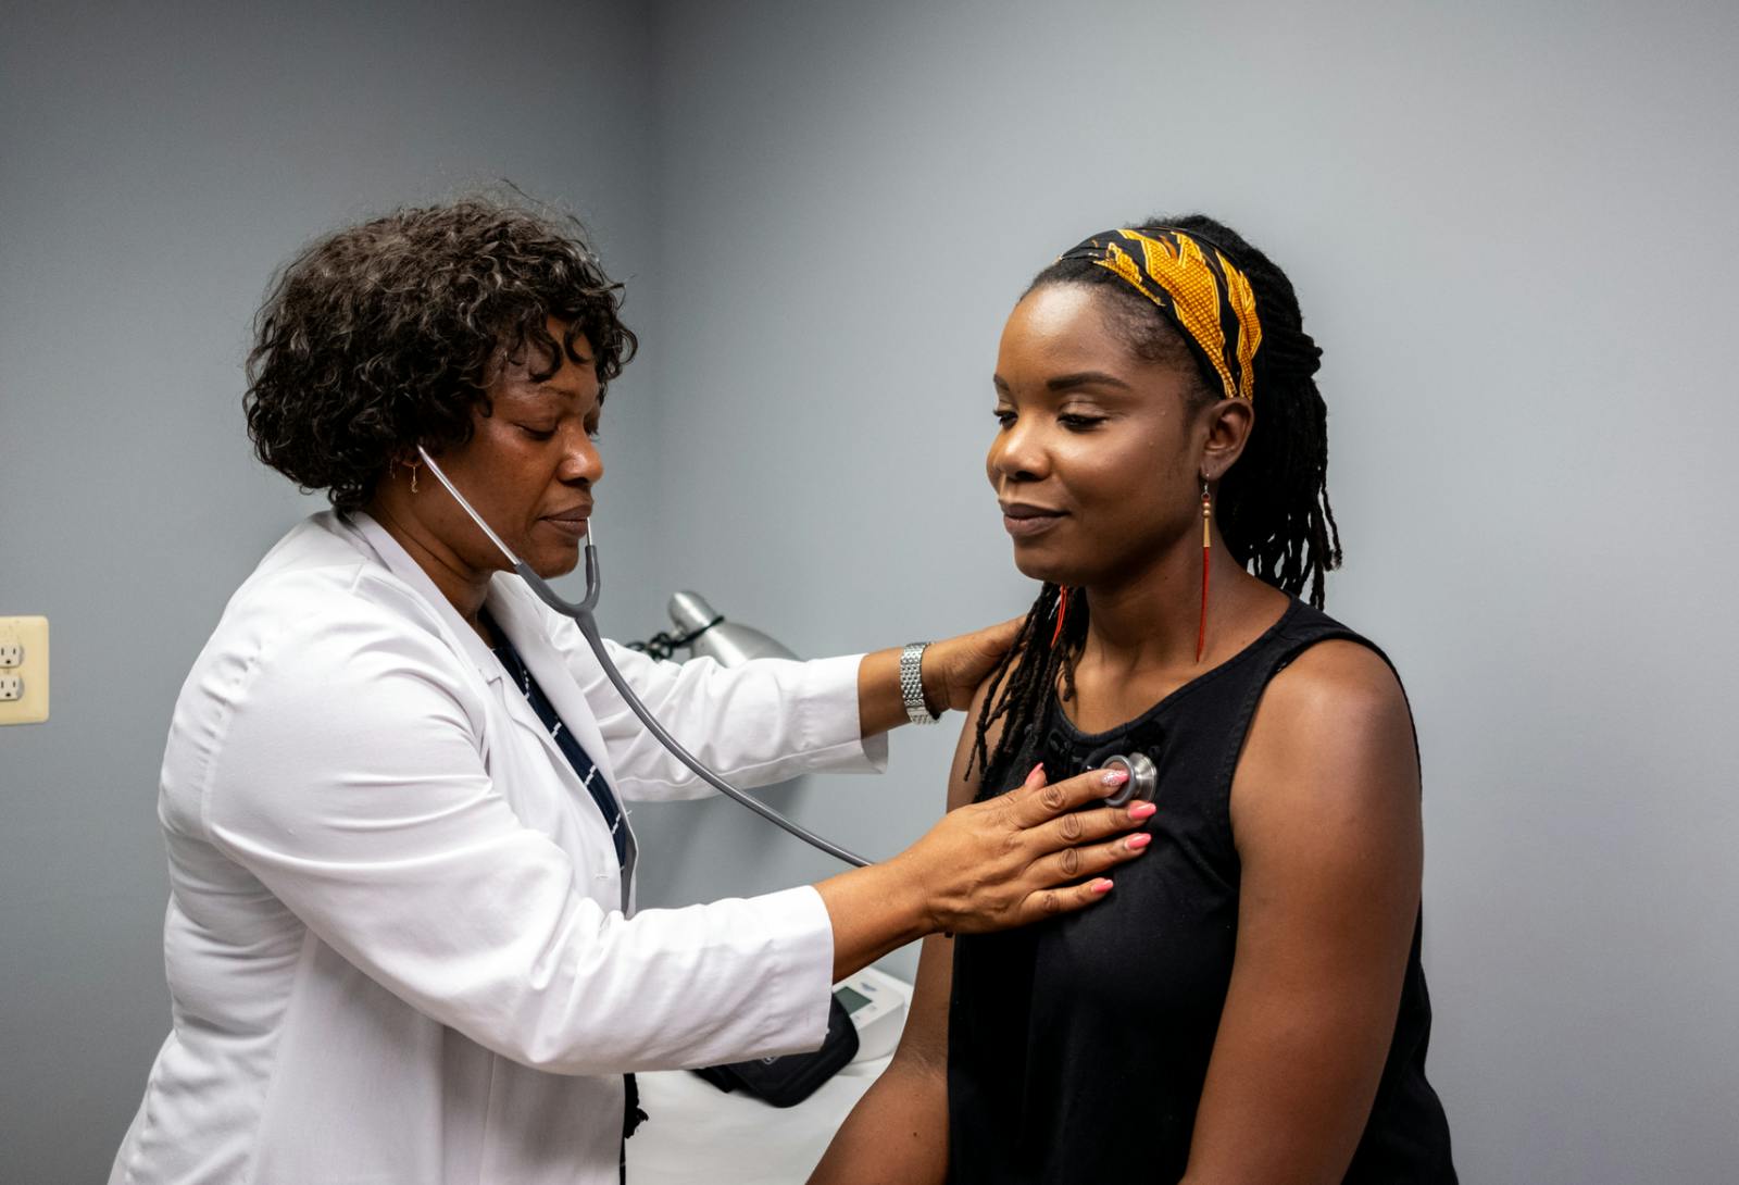
[[[1412,720],[1320,611],[1318,357],[1280,268],[1202,216],[1094,235],[1009,315],[988,470],[1043,586],[949,806],[1139,752],[1158,813],[1099,908],[925,940],[812,1185],[1456,1180]]]

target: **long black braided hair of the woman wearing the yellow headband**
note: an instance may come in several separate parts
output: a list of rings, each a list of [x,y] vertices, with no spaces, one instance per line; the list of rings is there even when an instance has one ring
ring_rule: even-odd
[[[1256,423],[1238,463],[1219,482],[1216,519],[1226,550],[1250,574],[1309,604],[1323,604],[1323,574],[1341,566],[1341,532],[1329,506],[1329,409],[1316,390],[1322,350],[1304,332],[1292,282],[1261,251],[1229,226],[1205,214],[1149,219],[1136,230],[1181,230],[1224,254],[1250,280],[1263,325],[1256,351]],[[1057,259],[1023,292],[1054,284],[1103,287],[1130,350],[1148,362],[1195,360],[1193,409],[1219,398],[1219,383],[1203,371],[1179,331],[1151,301],[1122,278],[1087,259]],[[991,672],[976,722],[972,769],[984,771],[979,793],[995,793],[991,774],[1021,752],[1054,694],[1075,698],[1075,659],[1087,644],[1087,599],[1078,590],[1045,583]],[[995,752],[989,731],[1002,722]]]

